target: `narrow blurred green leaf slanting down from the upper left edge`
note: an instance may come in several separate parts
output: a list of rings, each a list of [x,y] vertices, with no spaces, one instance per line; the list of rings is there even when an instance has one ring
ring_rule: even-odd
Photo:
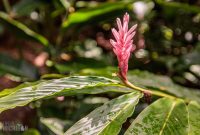
[[[0,12],[0,21],[8,26],[12,32],[15,32],[17,36],[39,42],[45,46],[49,45],[49,41],[44,36],[32,31],[27,26],[12,19],[4,12]]]

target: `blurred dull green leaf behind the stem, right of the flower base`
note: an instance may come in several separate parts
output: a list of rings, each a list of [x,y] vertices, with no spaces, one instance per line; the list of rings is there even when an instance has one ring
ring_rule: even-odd
[[[155,75],[147,71],[134,70],[128,73],[128,78],[129,81],[136,86],[158,90],[186,100],[196,100],[200,102],[199,90],[177,85],[167,76]]]

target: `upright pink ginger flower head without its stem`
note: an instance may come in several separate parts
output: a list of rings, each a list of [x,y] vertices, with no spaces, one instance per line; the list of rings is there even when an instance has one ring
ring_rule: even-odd
[[[129,14],[126,13],[123,18],[123,25],[119,18],[117,18],[118,31],[113,28],[112,33],[115,37],[115,41],[110,39],[110,43],[113,46],[113,52],[117,56],[118,67],[119,67],[119,77],[123,81],[127,81],[127,72],[128,72],[128,60],[130,54],[135,50],[135,45],[133,45],[132,38],[135,35],[135,29],[137,24],[128,29],[129,23]]]

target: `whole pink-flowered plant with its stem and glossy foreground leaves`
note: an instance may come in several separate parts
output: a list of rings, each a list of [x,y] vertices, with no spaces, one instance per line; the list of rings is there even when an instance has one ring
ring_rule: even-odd
[[[124,15],[123,24],[120,19],[117,19],[119,30],[118,32],[115,29],[112,30],[116,41],[111,40],[113,51],[117,55],[119,63],[117,75],[123,84],[118,80],[102,76],[70,76],[25,83],[0,93],[0,112],[45,98],[118,92],[122,95],[96,108],[66,132],[62,131],[63,128],[59,129],[51,125],[52,121],[56,122],[55,119],[41,119],[41,122],[55,134],[115,135],[119,134],[123,123],[133,115],[136,105],[143,96],[147,102],[150,102],[150,99],[156,96],[159,99],[138,114],[125,131],[125,135],[197,135],[200,132],[200,104],[198,103],[200,93],[194,92],[195,94],[192,94],[192,90],[184,90],[166,78],[163,78],[163,81],[169,82],[166,87],[162,86],[161,83],[156,84],[155,80],[152,84],[144,82],[144,88],[135,86],[128,81],[128,60],[130,52],[133,50],[131,39],[135,35],[134,30],[136,28],[136,25],[134,25],[128,30],[128,22],[129,15],[127,13]],[[151,79],[154,79],[154,77]],[[161,79],[162,77],[158,81],[162,81]],[[140,78],[140,81],[144,80],[144,78]],[[131,79],[131,81],[135,82],[136,80]],[[149,79],[145,81],[149,81]],[[180,91],[176,95],[172,91],[177,88],[180,88]],[[179,95],[181,92],[189,92],[189,94],[181,96]]]

